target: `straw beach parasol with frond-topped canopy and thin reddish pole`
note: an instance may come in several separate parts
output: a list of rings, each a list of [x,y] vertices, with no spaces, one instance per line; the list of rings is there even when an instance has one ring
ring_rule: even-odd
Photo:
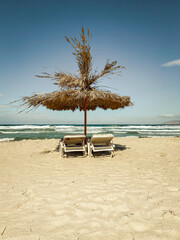
[[[59,87],[59,91],[44,94],[34,94],[30,97],[23,97],[18,100],[26,108],[37,108],[45,106],[51,110],[72,110],[79,109],[84,111],[84,134],[86,136],[86,111],[96,108],[118,109],[133,105],[128,96],[119,96],[109,91],[101,91],[97,86],[97,81],[102,77],[111,74],[119,74],[124,67],[118,66],[117,61],[109,62],[99,73],[92,70],[92,56],[89,45],[89,30],[87,35],[82,27],[80,40],[75,37],[69,39],[65,37],[68,43],[73,47],[73,55],[78,65],[78,74],[55,72],[54,74],[43,73],[37,75],[39,78],[50,78],[54,84]]]

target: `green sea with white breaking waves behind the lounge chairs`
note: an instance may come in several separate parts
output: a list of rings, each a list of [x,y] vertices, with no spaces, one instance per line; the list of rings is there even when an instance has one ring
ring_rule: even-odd
[[[60,139],[64,135],[83,134],[78,124],[0,124],[0,141],[24,139]],[[180,125],[163,124],[92,124],[87,125],[87,136],[111,133],[115,137],[180,137]]]

